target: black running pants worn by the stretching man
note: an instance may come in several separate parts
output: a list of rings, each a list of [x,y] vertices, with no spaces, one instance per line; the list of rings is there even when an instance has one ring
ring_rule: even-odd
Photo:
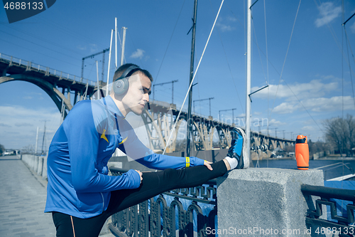
[[[212,171],[205,166],[198,166],[187,169],[165,169],[161,172],[143,172],[143,180],[138,189],[111,191],[109,206],[99,216],[77,218],[53,212],[57,236],[97,237],[109,216],[151,199],[164,191],[202,185],[210,179],[222,176],[227,171],[223,160],[211,166]]]

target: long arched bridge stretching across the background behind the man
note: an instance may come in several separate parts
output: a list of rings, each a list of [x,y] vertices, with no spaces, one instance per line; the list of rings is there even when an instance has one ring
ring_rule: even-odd
[[[73,100],[73,104],[75,104],[79,100],[92,98],[97,91],[97,82],[27,60],[7,56],[4,53],[0,53],[0,75],[0,84],[21,80],[42,88],[55,102],[59,111],[62,111],[62,107],[65,107],[64,116],[72,109],[73,105],[70,98],[72,92],[75,93]],[[106,85],[107,83],[99,82],[99,88],[104,88]],[[156,100],[149,102],[148,109],[141,116],[146,124],[151,149],[159,150],[161,147],[165,147],[168,137],[173,132],[171,136],[173,142],[168,144],[166,152],[175,152],[179,128],[182,127],[184,122],[186,124],[187,120],[187,111],[182,110],[176,129],[173,130],[173,125],[180,110],[182,108],[178,108],[175,104]],[[230,146],[230,130],[231,127],[234,127],[234,124],[214,120],[211,116],[196,113],[192,113],[192,123],[194,125],[192,137],[195,150],[224,149]],[[213,141],[216,135],[219,139],[217,146]],[[259,153],[263,151],[270,155],[276,147],[285,149],[286,146],[294,143],[295,141],[290,139],[271,137],[251,131],[251,149]]]

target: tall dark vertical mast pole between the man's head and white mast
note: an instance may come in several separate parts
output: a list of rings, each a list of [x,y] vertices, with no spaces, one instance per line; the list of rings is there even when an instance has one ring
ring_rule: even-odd
[[[191,59],[190,59],[190,84],[194,77],[194,59],[195,59],[195,36],[196,36],[196,16],[197,16],[197,0],[194,4],[194,18],[192,25],[192,43],[191,43]],[[186,156],[190,157],[190,137],[192,133],[192,118],[191,118],[191,104],[192,104],[192,87],[189,92],[189,107],[187,110],[187,141],[186,141]]]

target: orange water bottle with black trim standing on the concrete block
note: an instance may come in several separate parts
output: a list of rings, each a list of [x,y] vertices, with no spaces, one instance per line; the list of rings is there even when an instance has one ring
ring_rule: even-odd
[[[310,162],[310,151],[308,149],[307,136],[298,135],[295,145],[295,156],[297,169],[307,170]]]

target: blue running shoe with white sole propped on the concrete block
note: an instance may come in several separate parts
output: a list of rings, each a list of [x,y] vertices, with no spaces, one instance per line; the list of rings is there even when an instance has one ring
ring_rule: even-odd
[[[246,134],[241,128],[234,127],[231,130],[231,147],[229,147],[227,157],[235,158],[238,161],[236,169],[246,169],[249,167],[249,152],[246,150]]]

